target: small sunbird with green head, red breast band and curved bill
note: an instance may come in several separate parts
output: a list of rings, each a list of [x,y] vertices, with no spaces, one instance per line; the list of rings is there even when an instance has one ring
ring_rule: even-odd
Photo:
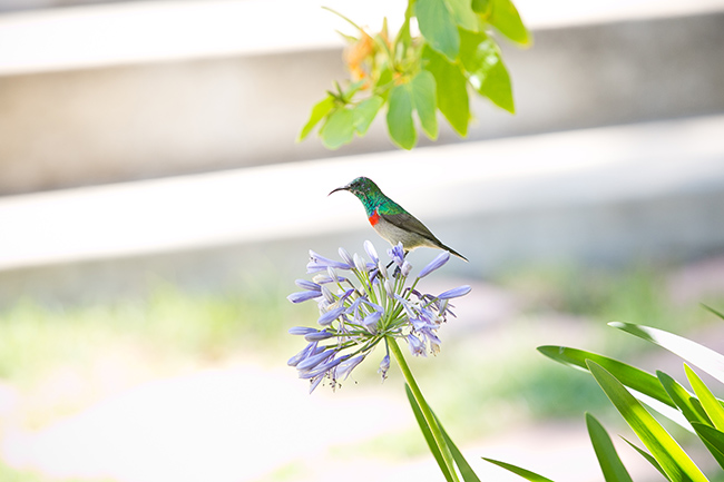
[[[392,246],[402,243],[405,256],[412,249],[430,247],[447,250],[460,259],[468,260],[457,250],[443,245],[417,217],[387,197],[372,179],[358,177],[350,184],[333,189],[327,196],[339,190],[355,195],[362,201],[374,230]]]

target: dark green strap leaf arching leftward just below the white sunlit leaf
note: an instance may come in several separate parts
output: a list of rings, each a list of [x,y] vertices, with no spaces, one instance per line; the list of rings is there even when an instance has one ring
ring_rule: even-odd
[[[539,346],[538,351],[556,362],[584,371],[588,371],[588,366],[586,365],[587,360],[596,362],[610,372],[624,385],[658,400],[668,406],[676,407],[676,404],[662,387],[658,378],[643,370],[607,356],[583,350],[568,348],[566,346]]]

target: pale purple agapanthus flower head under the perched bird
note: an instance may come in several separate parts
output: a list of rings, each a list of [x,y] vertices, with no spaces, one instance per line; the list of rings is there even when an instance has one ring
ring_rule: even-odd
[[[290,329],[309,342],[287,364],[296,367],[301,378],[310,380],[310,392],[324,381],[333,388],[339,386],[388,338],[404,340],[413,355],[437,354],[441,344],[437,331],[448,315],[454,316],[449,301],[470,292],[470,286],[459,286],[436,296],[415,289],[420,278],[448,262],[448,253],[437,256],[417,277],[410,278],[412,266],[404,258],[401,244],[388,250],[397,265],[394,276],[388,276],[387,263],[378,257],[372,243],[365,242],[364,250],[370,262],[344,248],[339,250],[341,262],[310,250],[307,273],[315,276],[313,281],[297,279],[296,285],[304,291],[287,296],[292,303],[315,299],[320,308],[319,328]],[[389,367],[390,353],[385,350],[378,371],[383,380]]]

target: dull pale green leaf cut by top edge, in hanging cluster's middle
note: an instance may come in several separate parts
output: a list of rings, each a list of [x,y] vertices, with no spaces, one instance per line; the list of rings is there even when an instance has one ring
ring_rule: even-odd
[[[414,14],[420,33],[430,47],[454,61],[460,49],[460,36],[452,13],[442,0],[417,0]]]

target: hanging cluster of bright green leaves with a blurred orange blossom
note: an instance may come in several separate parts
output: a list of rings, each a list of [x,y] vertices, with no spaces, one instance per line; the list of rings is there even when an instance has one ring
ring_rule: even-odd
[[[387,19],[371,35],[341,17],[358,31],[344,36],[350,80],[345,87],[336,82],[314,105],[299,141],[321,124],[322,144],[336,149],[355,135],[364,136],[384,106],[390,138],[403,149],[418,141],[415,124],[428,138],[438,138],[438,111],[464,137],[471,119],[469,90],[515,114],[510,76],[493,29],[521,46],[531,37],[510,0],[408,0],[404,22],[393,38]]]

